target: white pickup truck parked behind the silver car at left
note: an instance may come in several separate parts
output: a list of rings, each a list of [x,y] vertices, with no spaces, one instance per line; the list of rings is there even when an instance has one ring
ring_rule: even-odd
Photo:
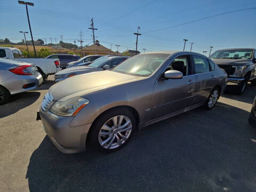
[[[0,47],[0,58],[32,63],[37,67],[44,80],[47,79],[48,75],[53,75],[60,71],[59,59],[24,58],[22,52],[13,47]]]

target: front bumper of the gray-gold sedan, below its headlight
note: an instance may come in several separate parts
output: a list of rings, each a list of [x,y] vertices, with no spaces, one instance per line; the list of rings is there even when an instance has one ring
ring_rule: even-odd
[[[58,116],[39,109],[45,133],[62,153],[79,153],[86,149],[87,133],[92,124],[70,126],[75,117]]]

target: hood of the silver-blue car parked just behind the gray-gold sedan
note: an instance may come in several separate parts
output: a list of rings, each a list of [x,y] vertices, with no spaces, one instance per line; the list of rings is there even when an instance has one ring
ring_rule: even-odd
[[[85,74],[85,73],[91,73],[93,71],[98,71],[100,70],[99,68],[95,67],[85,67],[85,66],[79,66],[79,67],[71,67],[67,69],[63,69],[59,71],[58,73],[55,73],[55,76],[63,76],[67,74]]]

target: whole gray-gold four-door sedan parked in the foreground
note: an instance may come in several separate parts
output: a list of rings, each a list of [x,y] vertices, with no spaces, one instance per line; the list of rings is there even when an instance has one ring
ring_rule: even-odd
[[[202,54],[143,53],[112,70],[54,84],[37,119],[63,153],[85,150],[86,141],[110,152],[137,129],[199,106],[212,109],[226,83],[226,72]]]

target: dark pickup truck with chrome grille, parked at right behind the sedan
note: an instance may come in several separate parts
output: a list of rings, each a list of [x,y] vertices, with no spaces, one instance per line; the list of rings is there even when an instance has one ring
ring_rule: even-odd
[[[228,85],[237,85],[237,93],[242,94],[251,81],[256,86],[256,50],[225,49],[215,51],[210,58],[228,74]]]

